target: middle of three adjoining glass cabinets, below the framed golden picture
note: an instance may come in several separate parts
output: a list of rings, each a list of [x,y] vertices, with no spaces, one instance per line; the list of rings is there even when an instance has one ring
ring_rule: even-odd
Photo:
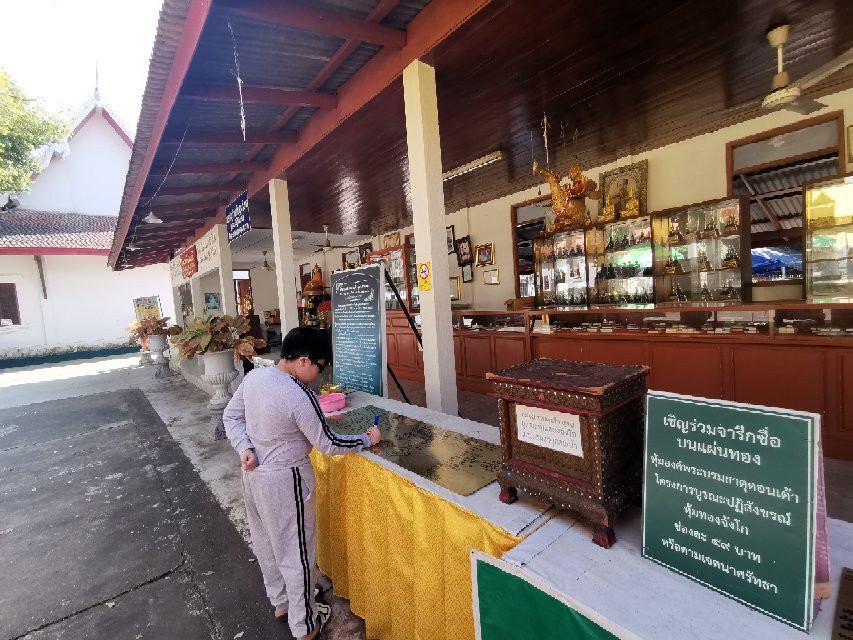
[[[586,252],[591,308],[647,308],[654,304],[648,217],[590,227]]]

